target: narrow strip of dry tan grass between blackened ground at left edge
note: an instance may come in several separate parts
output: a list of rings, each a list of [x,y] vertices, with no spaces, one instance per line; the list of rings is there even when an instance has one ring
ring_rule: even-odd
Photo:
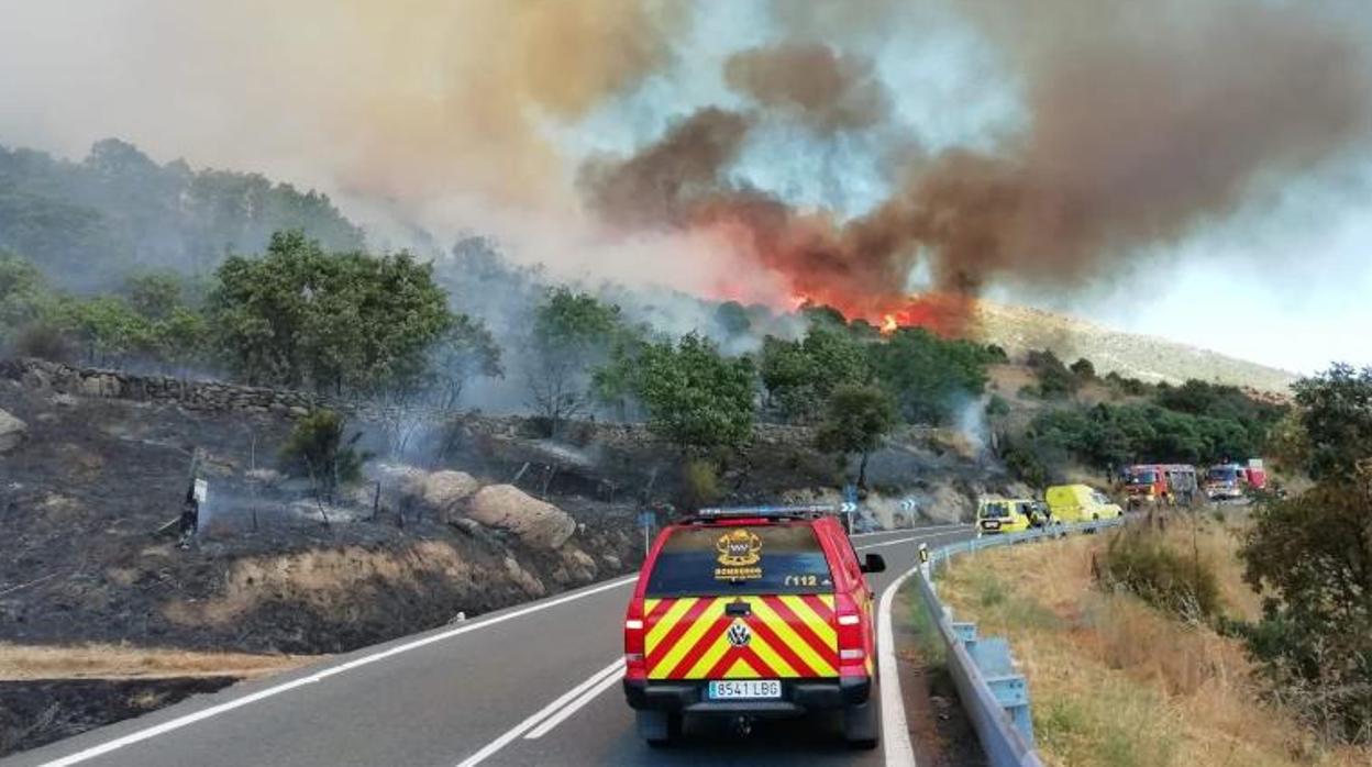
[[[0,681],[255,678],[299,667],[310,656],[193,653],[118,645],[27,646],[0,644]]]

